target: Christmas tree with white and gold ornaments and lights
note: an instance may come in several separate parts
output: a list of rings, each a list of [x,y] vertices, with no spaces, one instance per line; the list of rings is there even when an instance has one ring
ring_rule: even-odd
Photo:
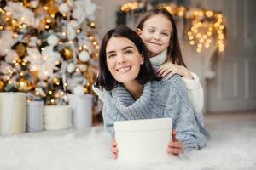
[[[26,92],[45,105],[88,94],[98,41],[90,0],[1,1],[0,91]]]

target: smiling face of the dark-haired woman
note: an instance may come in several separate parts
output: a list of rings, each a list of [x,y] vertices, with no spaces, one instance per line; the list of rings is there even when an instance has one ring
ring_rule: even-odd
[[[143,64],[136,45],[125,37],[111,37],[106,46],[108,70],[118,82],[134,81]]]

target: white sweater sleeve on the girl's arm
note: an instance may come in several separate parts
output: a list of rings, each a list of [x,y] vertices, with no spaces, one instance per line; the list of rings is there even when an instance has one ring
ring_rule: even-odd
[[[182,77],[185,82],[186,88],[188,89],[189,99],[193,106],[195,113],[201,112],[204,105],[204,94],[203,88],[197,75],[193,72],[190,72],[193,80]]]

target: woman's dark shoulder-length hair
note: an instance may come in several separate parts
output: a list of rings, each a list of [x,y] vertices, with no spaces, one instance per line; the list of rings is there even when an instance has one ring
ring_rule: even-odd
[[[154,74],[153,67],[149,61],[148,50],[141,37],[126,26],[117,26],[115,29],[108,31],[103,37],[99,56],[100,71],[95,83],[96,88],[112,90],[113,88],[116,88],[118,84],[122,84],[121,82],[116,81],[108,70],[106,47],[111,37],[125,37],[131,40],[137,47],[137,51],[143,55],[144,63],[140,67],[140,71],[136,78],[137,82],[145,84],[151,80],[159,80]]]

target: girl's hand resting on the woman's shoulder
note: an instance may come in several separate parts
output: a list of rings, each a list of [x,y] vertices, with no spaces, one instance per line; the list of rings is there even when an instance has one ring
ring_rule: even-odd
[[[167,79],[172,77],[174,74],[178,74],[182,77],[186,77],[191,80],[193,79],[192,75],[190,74],[189,70],[186,67],[184,67],[183,65],[173,64],[171,61],[168,61],[163,65],[160,65],[160,68],[158,69],[157,73],[160,77],[166,77],[167,75]]]

